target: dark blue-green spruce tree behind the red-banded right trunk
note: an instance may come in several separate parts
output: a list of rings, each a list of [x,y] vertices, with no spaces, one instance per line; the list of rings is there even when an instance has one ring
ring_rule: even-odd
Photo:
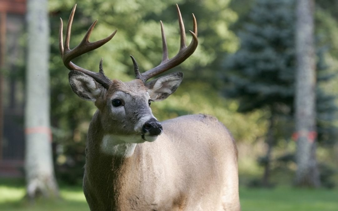
[[[278,117],[293,114],[296,71],[294,3],[294,0],[258,0],[248,15],[240,19],[242,24],[237,23],[237,27],[242,25],[238,33],[241,47],[224,61],[224,75],[228,84],[224,95],[239,100],[238,111],[262,108],[270,111],[267,117],[270,122],[266,135],[267,153],[260,159],[265,167],[263,185],[269,185],[271,151],[277,135],[280,135],[275,132]],[[323,55],[317,55],[318,80],[327,80],[330,77],[321,71],[325,68]],[[327,95],[319,95],[319,103],[321,99],[327,99],[332,104],[334,102],[334,98]],[[331,108],[321,111],[332,116],[335,109],[334,106]],[[325,115],[320,118],[322,116]],[[332,128],[332,122],[325,121],[325,126]],[[291,134],[283,135],[290,137]]]

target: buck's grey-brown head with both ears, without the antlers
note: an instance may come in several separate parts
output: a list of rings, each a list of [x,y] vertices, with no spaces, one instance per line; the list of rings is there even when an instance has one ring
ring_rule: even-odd
[[[79,71],[69,73],[72,90],[80,98],[95,102],[104,133],[118,136],[121,142],[132,143],[154,141],[161,135],[163,129],[151,112],[151,101],[166,99],[182,79],[183,73],[176,72],[149,83],[140,79],[130,82],[113,80],[106,89]]]

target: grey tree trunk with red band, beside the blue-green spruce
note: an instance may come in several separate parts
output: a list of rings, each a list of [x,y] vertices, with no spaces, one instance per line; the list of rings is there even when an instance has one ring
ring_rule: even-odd
[[[296,1],[296,93],[297,186],[319,187],[316,162],[314,1]]]

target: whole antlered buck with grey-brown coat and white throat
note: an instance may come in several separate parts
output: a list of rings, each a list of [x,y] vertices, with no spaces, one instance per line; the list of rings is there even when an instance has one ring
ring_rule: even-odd
[[[90,210],[239,210],[237,149],[230,132],[215,117],[185,115],[160,123],[153,116],[151,101],[171,95],[183,79],[176,72],[147,82],[186,60],[197,48],[197,24],[193,15],[192,41],[185,44],[185,29],[178,6],[180,49],[169,59],[161,22],[163,57],[155,68],[139,72],[132,58],[136,79],[108,79],[103,72],[83,69],[72,62],[112,39],[89,42],[96,21],[72,50],[71,25],[63,44],[60,23],[59,47],[70,70],[72,90],[97,107],[86,142],[83,192]]]

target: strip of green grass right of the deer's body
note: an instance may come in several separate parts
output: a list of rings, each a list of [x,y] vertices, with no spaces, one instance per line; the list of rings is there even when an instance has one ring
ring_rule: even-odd
[[[337,189],[240,188],[243,211],[337,211]]]

